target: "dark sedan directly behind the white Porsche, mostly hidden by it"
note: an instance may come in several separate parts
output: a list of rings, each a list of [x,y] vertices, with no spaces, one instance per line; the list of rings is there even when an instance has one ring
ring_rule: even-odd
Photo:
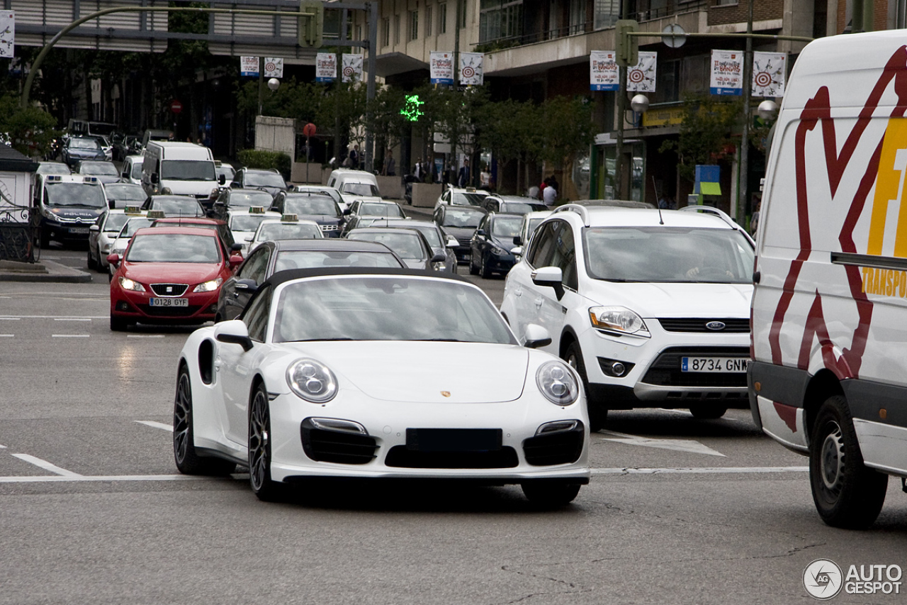
[[[381,243],[353,240],[282,240],[258,246],[220,288],[216,322],[236,319],[271,273],[323,267],[405,267]]]

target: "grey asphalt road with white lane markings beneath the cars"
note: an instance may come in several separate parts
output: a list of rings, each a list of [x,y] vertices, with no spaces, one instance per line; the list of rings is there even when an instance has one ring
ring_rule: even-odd
[[[44,254],[84,263],[56,244]],[[502,279],[467,278],[500,302]],[[592,436],[590,485],[562,511],[516,487],[410,482],[259,502],[244,474],[173,465],[191,329],[110,332],[108,305],[102,274],[0,283],[0,604],[790,603],[811,602],[816,559],[907,567],[900,481],[871,530],[828,528],[806,459],[746,410],[612,412]]]

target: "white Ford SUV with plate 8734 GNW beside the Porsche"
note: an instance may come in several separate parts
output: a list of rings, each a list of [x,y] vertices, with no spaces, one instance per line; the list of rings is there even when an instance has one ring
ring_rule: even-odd
[[[567,204],[507,275],[501,312],[583,378],[593,430],[608,410],[746,402],[753,240],[725,213]]]

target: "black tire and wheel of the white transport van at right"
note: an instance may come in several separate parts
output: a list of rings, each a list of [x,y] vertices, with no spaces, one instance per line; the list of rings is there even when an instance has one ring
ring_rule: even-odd
[[[829,397],[819,408],[810,443],[809,480],[819,516],[832,527],[868,528],[882,511],[888,475],[863,464],[844,396]]]

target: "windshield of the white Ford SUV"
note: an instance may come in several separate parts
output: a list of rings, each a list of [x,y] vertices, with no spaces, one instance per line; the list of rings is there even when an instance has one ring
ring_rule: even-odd
[[[586,268],[599,280],[752,282],[753,247],[732,229],[593,228],[583,240]]]

